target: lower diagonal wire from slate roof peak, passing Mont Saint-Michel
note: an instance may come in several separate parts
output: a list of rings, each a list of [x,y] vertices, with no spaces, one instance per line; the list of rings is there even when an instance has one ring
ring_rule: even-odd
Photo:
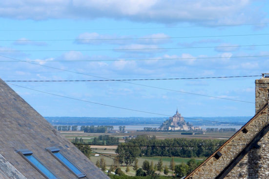
[[[40,90],[36,90],[36,89],[32,89],[32,88],[27,88],[27,87],[24,87],[24,86],[13,84],[13,83],[8,83],[8,84],[11,84],[11,85],[14,85],[14,86],[18,86],[18,87],[21,87],[21,88],[25,88],[25,89],[28,89],[28,90],[32,90],[32,91],[37,91],[37,92],[40,92],[40,93],[48,94],[48,95],[62,97],[62,98],[73,99],[73,100],[78,100],[78,101],[83,101],[83,102],[88,102],[88,103],[92,103],[92,104],[98,104],[98,105],[103,105],[103,106],[108,106],[108,107],[113,107],[113,108],[118,108],[118,109],[124,109],[124,110],[129,110],[129,111],[135,111],[135,112],[141,112],[141,113],[155,114],[155,115],[170,117],[170,115],[166,115],[166,114],[153,113],[153,112],[148,112],[148,111],[130,109],[130,108],[126,108],[126,107],[119,107],[119,106],[113,106],[113,105],[103,104],[103,103],[100,103],[100,102],[93,102],[93,101],[89,101],[89,100],[76,99],[76,98],[67,97],[67,96],[63,96],[63,95],[57,95],[57,94],[53,94],[53,93],[49,93],[49,92],[44,92],[44,91],[40,91]],[[204,119],[194,119],[194,118],[185,118],[185,119],[202,120],[202,121],[210,121],[210,122],[216,122],[216,123],[240,125],[238,123],[221,122],[221,121],[214,121],[214,120],[204,120]]]

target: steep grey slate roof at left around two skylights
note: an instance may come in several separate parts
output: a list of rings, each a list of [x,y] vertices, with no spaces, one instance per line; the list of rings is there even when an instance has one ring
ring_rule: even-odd
[[[45,179],[17,152],[21,149],[32,151],[33,156],[59,179],[77,179],[45,150],[48,147],[59,148],[64,156],[86,174],[83,179],[108,179],[80,150],[0,79],[0,179]],[[7,173],[12,172],[13,177],[10,177]]]

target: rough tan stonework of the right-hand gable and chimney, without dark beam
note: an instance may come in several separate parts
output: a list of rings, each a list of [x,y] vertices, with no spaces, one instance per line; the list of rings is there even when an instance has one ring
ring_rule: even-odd
[[[268,104],[269,79],[256,80],[256,115]],[[247,133],[239,132],[219,152],[219,159],[211,157],[186,179],[214,179],[246,145],[269,123],[269,109],[265,108],[246,125]],[[269,134],[230,171],[225,179],[269,179]]]

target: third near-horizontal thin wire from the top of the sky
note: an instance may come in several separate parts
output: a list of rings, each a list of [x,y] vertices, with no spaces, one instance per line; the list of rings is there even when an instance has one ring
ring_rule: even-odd
[[[128,50],[169,50],[169,49],[200,49],[200,48],[226,48],[226,47],[252,47],[269,46],[269,44],[258,45],[226,45],[226,46],[207,46],[207,47],[169,47],[169,48],[125,48],[125,49],[62,49],[62,50],[0,50],[0,52],[58,52],[58,51],[128,51]]]

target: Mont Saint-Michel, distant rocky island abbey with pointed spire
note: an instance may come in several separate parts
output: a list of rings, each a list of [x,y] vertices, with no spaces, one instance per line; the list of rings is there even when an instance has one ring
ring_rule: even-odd
[[[178,110],[173,117],[170,117],[169,119],[164,121],[163,124],[159,127],[159,130],[161,131],[193,131],[197,129],[199,130],[201,128],[194,127],[189,122],[186,122],[185,119],[178,112]]]

